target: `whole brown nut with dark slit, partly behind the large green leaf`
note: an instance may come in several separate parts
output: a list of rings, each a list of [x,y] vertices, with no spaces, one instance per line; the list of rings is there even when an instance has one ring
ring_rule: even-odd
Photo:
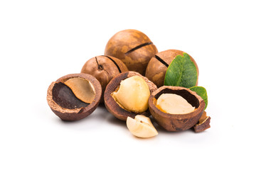
[[[171,64],[172,60],[177,55],[183,55],[183,51],[181,50],[165,50],[157,53],[154,57],[151,58],[149,64],[146,67],[146,77],[154,82],[157,87],[164,86],[164,78],[166,75],[166,70]],[[189,55],[189,57],[191,57]],[[196,70],[199,75],[198,65],[196,61],[191,57],[191,61],[196,65]],[[198,80],[196,81],[196,85],[198,84]]]

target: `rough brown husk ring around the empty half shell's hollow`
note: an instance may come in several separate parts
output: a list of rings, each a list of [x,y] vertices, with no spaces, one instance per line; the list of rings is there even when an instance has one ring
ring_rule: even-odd
[[[63,108],[59,106],[58,103],[53,101],[53,86],[58,83],[64,83],[66,80],[75,77],[80,77],[91,82],[92,86],[95,88],[95,99],[87,107],[75,109]],[[53,81],[50,84],[47,91],[48,105],[50,106],[53,113],[55,113],[55,115],[58,115],[60,119],[68,121],[80,120],[87,117],[87,115],[90,115],[99,105],[101,96],[102,87],[100,85],[100,82],[97,81],[97,79],[90,74],[68,74],[64,77],[60,77],[60,79],[58,79],[57,81]]]

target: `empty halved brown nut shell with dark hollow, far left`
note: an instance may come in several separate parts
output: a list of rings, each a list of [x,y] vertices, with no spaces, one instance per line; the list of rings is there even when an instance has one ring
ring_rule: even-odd
[[[65,85],[65,82],[70,79],[85,80],[85,82],[88,82],[93,87],[95,96],[90,103],[85,103],[75,96],[75,88],[77,88],[77,85],[80,86],[80,84]],[[78,92],[80,91],[78,90]],[[60,77],[60,79],[50,84],[47,91],[47,101],[50,109],[60,119],[69,121],[80,120],[90,115],[99,105],[101,96],[102,87],[100,82],[90,74],[68,74]]]

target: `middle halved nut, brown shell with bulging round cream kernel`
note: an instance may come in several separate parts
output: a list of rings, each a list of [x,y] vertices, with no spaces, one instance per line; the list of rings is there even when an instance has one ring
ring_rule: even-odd
[[[148,101],[156,85],[137,72],[124,72],[114,77],[104,94],[105,106],[120,120],[135,115],[149,115]]]

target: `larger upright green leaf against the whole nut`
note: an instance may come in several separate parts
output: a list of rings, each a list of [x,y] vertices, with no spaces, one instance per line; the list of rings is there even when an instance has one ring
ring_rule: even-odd
[[[185,52],[177,55],[169,65],[164,79],[165,86],[183,86],[190,88],[196,86],[198,74],[196,65]]]

